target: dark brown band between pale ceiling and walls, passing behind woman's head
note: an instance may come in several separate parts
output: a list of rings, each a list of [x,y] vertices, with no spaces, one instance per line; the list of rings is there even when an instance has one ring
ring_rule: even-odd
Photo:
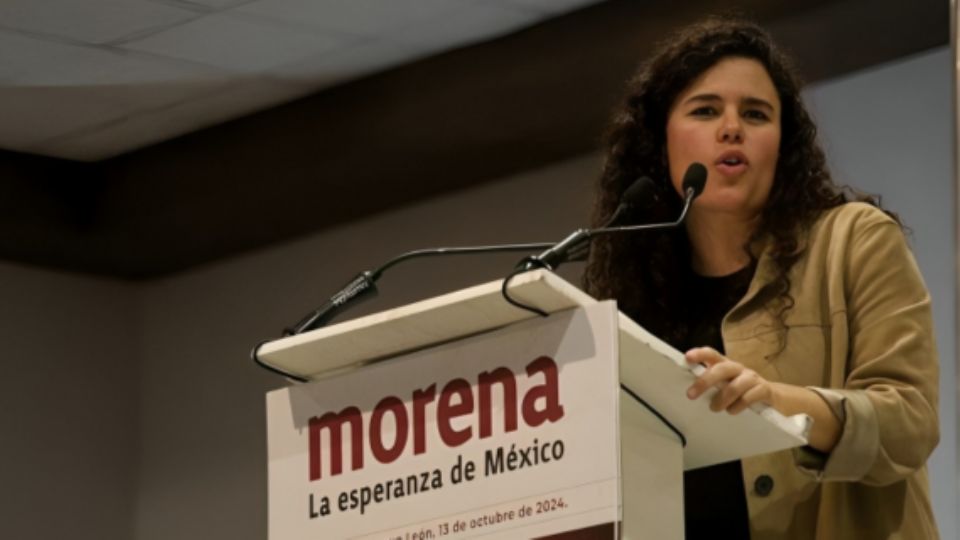
[[[590,152],[653,45],[734,4],[811,82],[949,43],[944,0],[611,0],[98,163],[0,151],[0,258],[157,277]]]

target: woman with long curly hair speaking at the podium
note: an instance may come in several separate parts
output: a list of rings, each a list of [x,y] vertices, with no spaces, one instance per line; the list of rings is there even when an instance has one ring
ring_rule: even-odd
[[[630,82],[594,221],[637,177],[635,221],[684,229],[594,243],[585,285],[706,371],[690,399],[805,413],[809,446],[685,475],[688,538],[936,538],[925,463],[938,441],[930,298],[895,216],[838,189],[788,62],[758,27],[686,29]]]

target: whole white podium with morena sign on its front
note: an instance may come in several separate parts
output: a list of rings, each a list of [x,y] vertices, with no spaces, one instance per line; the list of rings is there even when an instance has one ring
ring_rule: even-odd
[[[269,538],[682,539],[683,471],[810,419],[689,400],[682,353],[546,270],[268,342]]]

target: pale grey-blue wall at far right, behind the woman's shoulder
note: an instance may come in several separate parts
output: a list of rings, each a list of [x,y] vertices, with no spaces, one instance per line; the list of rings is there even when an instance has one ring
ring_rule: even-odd
[[[930,483],[942,538],[960,538],[951,57],[943,47],[807,92],[835,179],[883,195],[900,214],[933,297],[941,435]]]

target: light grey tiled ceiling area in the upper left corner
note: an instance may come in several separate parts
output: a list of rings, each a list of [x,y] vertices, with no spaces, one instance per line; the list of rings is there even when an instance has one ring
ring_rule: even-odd
[[[202,122],[174,115],[170,118],[183,122],[174,128],[156,111],[191,99],[206,102],[225,76],[234,77],[235,85],[251,84],[251,75],[273,77],[274,87],[289,85],[265,92],[252,83],[256,87],[249,92],[238,92],[273,100],[243,100],[253,112],[289,99],[281,96],[317,92],[511,32],[571,5],[569,0],[538,7],[513,0],[0,0],[0,85],[58,89],[36,93],[35,102],[30,93],[17,93],[17,117],[24,110],[48,110],[51,99],[57,101],[54,109],[69,108],[71,101],[85,109],[63,118],[40,115],[19,140],[12,126],[0,127],[2,148],[107,159],[215,123],[210,114],[203,114]],[[98,91],[89,91],[94,87]],[[0,116],[14,101],[0,103]],[[224,122],[239,114],[216,103],[204,109],[215,111],[223,112]],[[133,118],[138,114],[144,119]],[[151,128],[148,119],[159,125]],[[115,136],[130,126],[142,133]],[[58,141],[70,144],[61,152]],[[102,145],[97,151],[95,141]]]

